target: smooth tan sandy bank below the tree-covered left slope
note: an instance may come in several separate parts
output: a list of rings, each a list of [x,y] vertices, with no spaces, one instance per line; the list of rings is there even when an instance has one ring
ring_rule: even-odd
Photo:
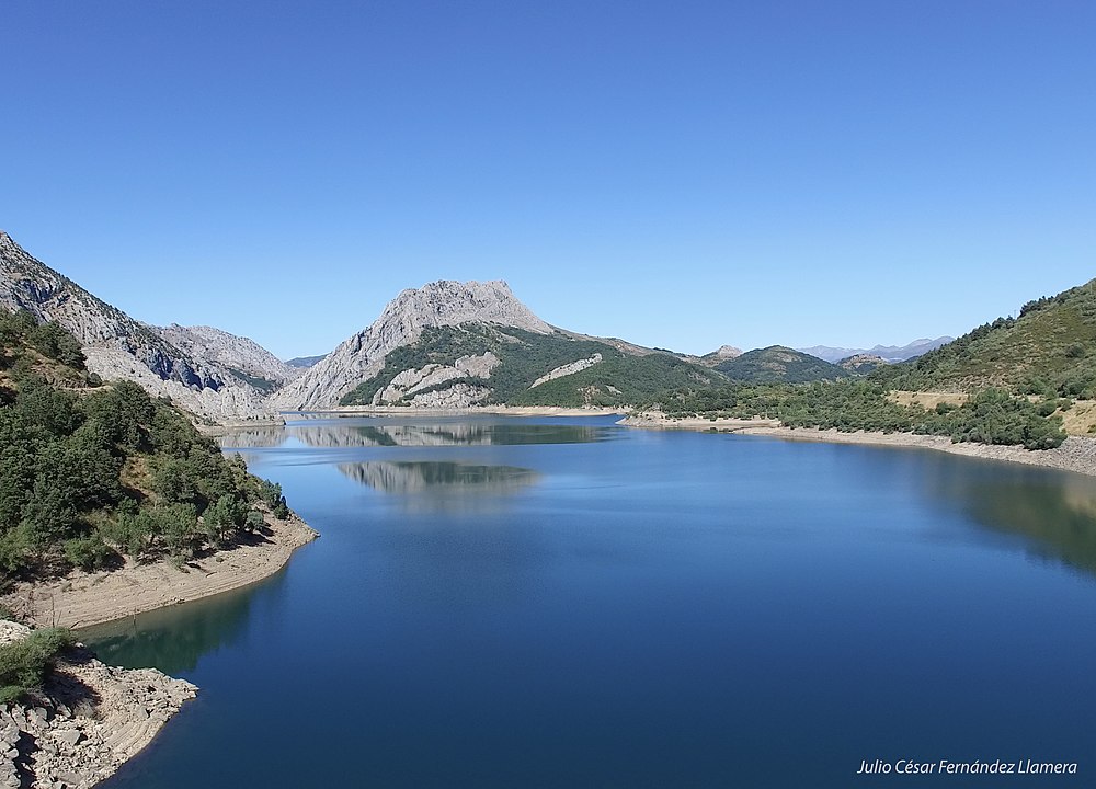
[[[318,536],[290,513],[287,521],[267,516],[270,534],[195,559],[181,569],[161,561],[114,571],[83,572],[45,583],[22,583],[0,597],[25,621],[80,628],[141,611],[209,597],[261,581],[281,570],[289,556]]]

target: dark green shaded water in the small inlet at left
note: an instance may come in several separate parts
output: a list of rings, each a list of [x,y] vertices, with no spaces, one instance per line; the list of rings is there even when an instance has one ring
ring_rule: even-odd
[[[263,591],[284,583],[277,573]],[[232,644],[244,631],[256,587],[226,592],[80,630],[80,639],[107,665],[193,673],[203,655]]]

